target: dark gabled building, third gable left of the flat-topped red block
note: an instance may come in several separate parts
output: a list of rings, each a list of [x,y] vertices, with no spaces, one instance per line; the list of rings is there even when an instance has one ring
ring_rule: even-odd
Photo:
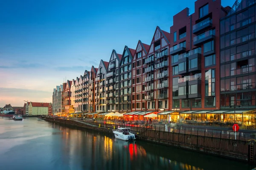
[[[119,64],[119,112],[131,112],[131,65],[135,50],[125,45]],[[134,89],[135,91],[135,89]]]

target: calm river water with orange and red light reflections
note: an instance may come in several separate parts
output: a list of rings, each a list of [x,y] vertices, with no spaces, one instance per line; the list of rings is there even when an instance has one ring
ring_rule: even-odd
[[[0,170],[251,170],[247,164],[38,120],[0,117]]]

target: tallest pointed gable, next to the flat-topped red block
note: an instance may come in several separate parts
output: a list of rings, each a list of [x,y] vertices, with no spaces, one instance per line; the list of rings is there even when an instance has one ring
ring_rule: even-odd
[[[161,47],[164,47],[164,46],[170,44],[170,42],[169,42],[170,37],[171,37],[171,35],[168,32],[161,30],[160,27],[157,26],[156,31],[154,33],[154,37],[153,37],[153,39],[151,41],[151,45],[150,45],[148,54],[152,53],[154,51],[154,42],[155,41],[160,40]]]

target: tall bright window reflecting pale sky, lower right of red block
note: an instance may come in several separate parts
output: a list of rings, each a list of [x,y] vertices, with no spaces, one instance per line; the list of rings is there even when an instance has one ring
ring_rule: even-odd
[[[215,96],[215,70],[205,71],[205,96]]]

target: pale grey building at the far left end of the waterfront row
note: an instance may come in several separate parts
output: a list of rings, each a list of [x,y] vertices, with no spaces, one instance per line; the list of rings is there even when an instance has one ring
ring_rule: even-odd
[[[53,89],[52,93],[52,113],[61,113],[61,95],[62,95],[63,85],[57,85]]]

